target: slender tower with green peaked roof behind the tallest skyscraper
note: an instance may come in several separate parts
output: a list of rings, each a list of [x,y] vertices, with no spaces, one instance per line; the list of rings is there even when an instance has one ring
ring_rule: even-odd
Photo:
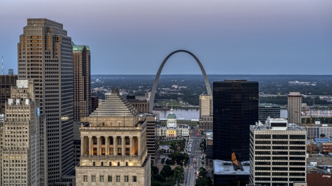
[[[88,45],[73,45],[74,121],[91,114],[91,52]]]

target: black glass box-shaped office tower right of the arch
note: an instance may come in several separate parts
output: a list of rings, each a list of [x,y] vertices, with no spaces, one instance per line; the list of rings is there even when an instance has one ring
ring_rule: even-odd
[[[249,161],[249,126],[258,122],[258,82],[213,82],[213,159]]]

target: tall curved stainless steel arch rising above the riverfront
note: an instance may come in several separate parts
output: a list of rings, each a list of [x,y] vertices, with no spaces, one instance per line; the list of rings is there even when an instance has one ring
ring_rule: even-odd
[[[163,70],[163,67],[164,67],[166,61],[169,59],[169,57],[171,57],[173,54],[178,53],[178,52],[185,52],[187,54],[190,54],[194,59],[196,59],[197,63],[199,64],[199,68],[201,68],[201,71],[202,71],[202,74],[203,74],[206,91],[208,92],[209,95],[212,95],[210,82],[209,82],[208,76],[206,76],[206,73],[205,73],[205,70],[203,68],[203,65],[202,65],[201,61],[199,61],[199,59],[194,54],[192,54],[192,52],[189,52],[187,50],[176,50],[176,51],[172,52],[171,54],[169,54],[164,59],[163,63],[161,63],[161,65],[159,67],[159,70],[156,74],[156,78],[154,79],[154,85],[152,86],[152,90],[151,90],[151,96],[150,96],[150,99],[149,99],[149,112],[152,112],[152,110],[154,108],[154,97],[156,96],[156,90],[157,90],[157,85],[158,85],[161,70]]]

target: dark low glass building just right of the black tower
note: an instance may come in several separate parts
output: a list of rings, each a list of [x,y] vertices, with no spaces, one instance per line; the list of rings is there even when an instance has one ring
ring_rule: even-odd
[[[259,103],[258,104],[258,120],[265,123],[266,119],[280,118],[280,105],[273,103]]]

